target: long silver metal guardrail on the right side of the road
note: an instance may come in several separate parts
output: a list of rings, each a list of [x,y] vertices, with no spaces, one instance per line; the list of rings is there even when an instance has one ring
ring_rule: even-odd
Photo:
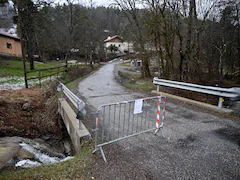
[[[218,107],[220,108],[222,108],[222,104],[224,101],[223,97],[230,98],[231,100],[236,100],[237,98],[240,97],[240,88],[238,87],[221,88],[221,87],[203,86],[198,84],[158,79],[158,77],[153,78],[153,84],[157,85],[157,91],[159,91],[160,86],[167,86],[167,87],[179,88],[179,89],[219,96]]]

